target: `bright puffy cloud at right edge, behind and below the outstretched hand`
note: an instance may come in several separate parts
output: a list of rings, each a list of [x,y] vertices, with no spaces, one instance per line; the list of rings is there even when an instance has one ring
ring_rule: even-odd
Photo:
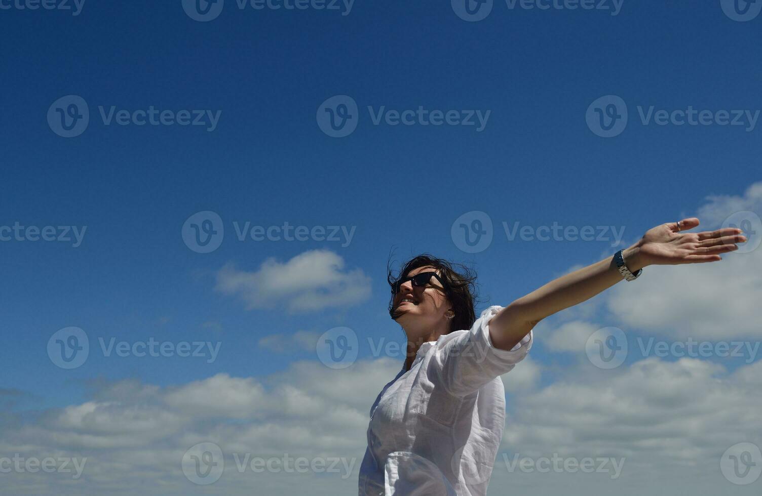
[[[744,196],[708,196],[692,232],[721,227],[737,211],[762,211],[762,183]],[[760,234],[756,234],[759,237]],[[750,242],[753,238],[749,236]],[[744,243],[738,245],[744,246]],[[715,341],[762,337],[762,247],[726,253],[719,262],[655,265],[638,281],[607,292],[609,310],[626,326],[680,339]]]

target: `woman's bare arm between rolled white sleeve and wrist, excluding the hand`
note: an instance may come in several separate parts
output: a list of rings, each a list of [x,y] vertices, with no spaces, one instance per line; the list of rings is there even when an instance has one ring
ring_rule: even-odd
[[[622,253],[630,272],[644,266],[639,250],[636,243]],[[619,281],[623,278],[613,256],[550,281],[515,300],[492,318],[489,323],[492,342],[497,348],[511,349],[546,316],[589,300]]]

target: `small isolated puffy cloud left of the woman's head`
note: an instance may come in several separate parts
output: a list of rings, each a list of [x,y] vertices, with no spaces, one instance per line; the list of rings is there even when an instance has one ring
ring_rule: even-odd
[[[249,310],[283,305],[304,312],[367,300],[370,278],[361,269],[344,269],[336,253],[312,250],[284,263],[266,259],[256,272],[225,265],[217,272],[215,289],[240,297]]]

